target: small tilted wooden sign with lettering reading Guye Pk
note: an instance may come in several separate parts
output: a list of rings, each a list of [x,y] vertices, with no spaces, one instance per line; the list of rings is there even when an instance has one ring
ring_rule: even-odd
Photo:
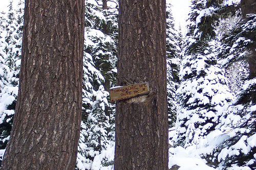
[[[111,102],[116,102],[148,93],[150,93],[148,82],[130,86],[113,87],[110,89],[110,100]]]

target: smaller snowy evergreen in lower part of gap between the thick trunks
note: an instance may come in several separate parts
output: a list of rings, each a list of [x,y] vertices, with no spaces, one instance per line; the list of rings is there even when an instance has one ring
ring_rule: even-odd
[[[107,149],[113,150],[114,147],[113,125],[111,124],[113,117],[105,114],[105,106],[109,106],[107,99],[109,93],[102,85],[103,76],[94,67],[90,54],[85,52],[83,62],[83,111],[77,169],[100,169],[104,161],[112,161],[109,160],[112,159],[111,155],[103,155]],[[97,166],[94,167],[94,164]]]

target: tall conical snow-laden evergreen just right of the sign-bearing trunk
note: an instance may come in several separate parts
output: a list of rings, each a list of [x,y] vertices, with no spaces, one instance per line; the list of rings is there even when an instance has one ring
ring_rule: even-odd
[[[189,14],[181,85],[177,91],[177,142],[184,147],[202,145],[208,133],[221,128],[222,117],[228,114],[227,107],[233,99],[217,58],[219,42],[215,38],[216,19],[212,13],[219,4],[207,3],[193,1]]]

